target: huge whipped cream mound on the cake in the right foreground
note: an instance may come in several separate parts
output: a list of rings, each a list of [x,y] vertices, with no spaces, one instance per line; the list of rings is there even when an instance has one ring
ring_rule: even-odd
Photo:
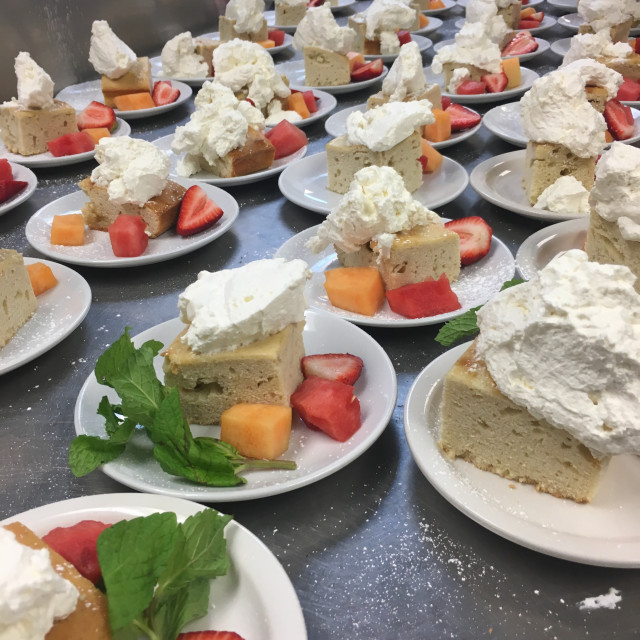
[[[640,453],[640,295],[624,266],[577,249],[478,311],[502,393],[599,455]]]

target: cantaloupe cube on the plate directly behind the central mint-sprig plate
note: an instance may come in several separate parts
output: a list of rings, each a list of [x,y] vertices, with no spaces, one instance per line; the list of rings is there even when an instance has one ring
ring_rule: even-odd
[[[375,267],[331,269],[324,277],[324,288],[334,307],[372,316],[384,302],[384,284]]]

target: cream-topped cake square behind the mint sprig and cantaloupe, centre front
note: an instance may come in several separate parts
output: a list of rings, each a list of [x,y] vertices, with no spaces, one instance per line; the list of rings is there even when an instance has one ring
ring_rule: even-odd
[[[302,381],[302,260],[258,260],[202,271],[180,294],[185,330],[165,351],[165,382],[177,387],[189,422],[218,424],[241,403],[289,405]]]

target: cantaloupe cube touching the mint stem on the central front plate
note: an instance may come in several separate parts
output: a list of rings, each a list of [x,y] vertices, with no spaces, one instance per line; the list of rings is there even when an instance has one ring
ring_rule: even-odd
[[[236,404],[220,417],[220,440],[243,456],[275,460],[289,448],[291,407]]]

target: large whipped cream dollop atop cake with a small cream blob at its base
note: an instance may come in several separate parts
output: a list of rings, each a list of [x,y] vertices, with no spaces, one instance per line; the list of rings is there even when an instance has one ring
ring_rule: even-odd
[[[607,124],[587,101],[585,86],[615,98],[622,76],[595,60],[576,60],[538,78],[520,100],[524,132],[534,142],[561,144],[580,158],[604,149]]]

